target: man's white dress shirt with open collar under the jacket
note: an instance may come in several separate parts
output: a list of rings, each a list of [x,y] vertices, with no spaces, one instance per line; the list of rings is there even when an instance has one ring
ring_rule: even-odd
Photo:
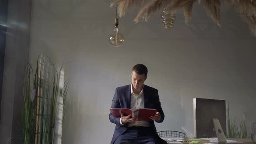
[[[143,86],[144,88],[144,86]],[[143,88],[141,89],[141,92],[137,95],[133,92],[132,89],[132,84],[131,84],[131,110],[135,110],[138,108],[144,108],[144,93],[143,93]],[[122,124],[121,121],[122,118],[120,118],[120,124]],[[133,126],[143,126],[143,127],[150,127],[150,124],[148,121],[136,121],[134,124],[131,124],[129,122],[128,127],[133,127]]]

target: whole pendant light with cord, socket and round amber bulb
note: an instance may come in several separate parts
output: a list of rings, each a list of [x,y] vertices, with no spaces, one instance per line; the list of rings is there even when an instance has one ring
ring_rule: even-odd
[[[124,42],[124,36],[118,32],[118,18],[117,18],[117,5],[116,5],[116,16],[115,16],[115,29],[114,33],[111,34],[108,38],[109,43],[112,46],[118,47],[121,46],[121,44]]]

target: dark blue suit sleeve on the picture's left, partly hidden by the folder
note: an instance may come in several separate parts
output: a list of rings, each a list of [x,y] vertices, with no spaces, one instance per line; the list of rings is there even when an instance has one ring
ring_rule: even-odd
[[[121,108],[120,103],[119,103],[119,98],[118,98],[118,90],[117,88],[115,89],[115,95],[112,99],[112,104],[111,104],[111,108]],[[120,124],[120,118],[121,117],[114,117],[110,111],[109,113],[109,120],[110,122],[117,124],[119,126],[123,126]]]

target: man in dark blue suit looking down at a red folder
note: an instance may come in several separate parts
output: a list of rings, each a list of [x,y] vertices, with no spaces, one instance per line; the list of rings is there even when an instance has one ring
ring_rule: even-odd
[[[135,65],[131,73],[132,83],[116,88],[111,108],[154,108],[158,112],[150,117],[152,121],[136,121],[137,117],[131,118],[131,115],[114,117],[110,112],[109,120],[116,124],[111,144],[167,144],[158,136],[154,125],[154,121],[164,121],[164,112],[158,90],[144,85],[147,74],[145,65]]]

